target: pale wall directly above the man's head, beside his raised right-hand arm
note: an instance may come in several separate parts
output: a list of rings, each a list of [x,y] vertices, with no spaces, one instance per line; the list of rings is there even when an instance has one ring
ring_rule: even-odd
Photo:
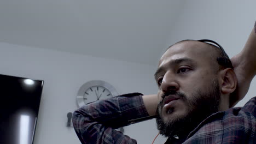
[[[187,0],[171,28],[166,47],[184,39],[212,39],[222,45],[231,58],[242,50],[253,29],[255,5],[256,1],[252,0]],[[246,97],[236,106],[243,106],[255,96],[255,86],[254,79]]]

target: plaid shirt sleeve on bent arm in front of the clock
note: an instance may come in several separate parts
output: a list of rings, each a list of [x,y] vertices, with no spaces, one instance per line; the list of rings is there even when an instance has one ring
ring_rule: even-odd
[[[83,144],[137,143],[115,129],[129,125],[131,119],[147,116],[142,94],[131,93],[82,106],[73,113],[72,121]]]

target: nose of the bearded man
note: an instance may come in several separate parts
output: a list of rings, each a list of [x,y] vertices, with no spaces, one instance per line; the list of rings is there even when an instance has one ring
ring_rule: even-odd
[[[168,71],[162,79],[161,89],[163,93],[169,91],[178,91],[179,84],[177,82],[176,77],[172,74],[171,71]]]

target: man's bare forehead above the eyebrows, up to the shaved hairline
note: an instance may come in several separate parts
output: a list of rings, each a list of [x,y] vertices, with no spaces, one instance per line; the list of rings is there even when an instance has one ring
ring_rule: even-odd
[[[183,41],[171,46],[162,55],[159,61],[159,67],[168,61],[174,61],[180,58],[189,58],[197,63],[212,63],[213,47],[199,41]]]

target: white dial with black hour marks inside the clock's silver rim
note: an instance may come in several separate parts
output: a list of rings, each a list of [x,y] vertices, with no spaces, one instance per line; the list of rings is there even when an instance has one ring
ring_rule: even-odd
[[[84,92],[84,103],[96,101],[100,99],[107,99],[113,97],[112,93],[103,86],[92,86]]]

